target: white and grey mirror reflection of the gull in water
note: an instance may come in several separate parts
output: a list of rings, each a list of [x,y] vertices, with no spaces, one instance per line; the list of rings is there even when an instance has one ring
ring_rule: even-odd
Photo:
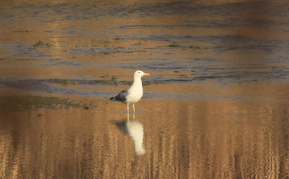
[[[127,120],[122,120],[117,122],[116,126],[124,133],[128,134],[134,140],[135,151],[137,155],[143,155],[145,153],[143,147],[143,136],[144,127],[143,125],[134,118],[129,119],[129,114],[127,113]]]

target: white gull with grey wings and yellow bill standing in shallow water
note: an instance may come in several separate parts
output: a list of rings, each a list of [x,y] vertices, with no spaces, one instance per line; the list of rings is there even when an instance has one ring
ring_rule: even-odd
[[[142,91],[141,77],[144,75],[149,76],[148,73],[144,73],[141,70],[136,70],[136,72],[134,72],[134,82],[132,83],[132,85],[129,88],[118,93],[118,95],[110,98],[110,100],[127,104],[127,113],[128,113],[129,111],[128,105],[133,104],[134,107],[134,104],[138,102],[140,98],[142,98],[143,91]]]

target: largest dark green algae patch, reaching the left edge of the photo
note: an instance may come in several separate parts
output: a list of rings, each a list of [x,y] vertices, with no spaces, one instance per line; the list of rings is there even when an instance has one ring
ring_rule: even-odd
[[[82,107],[73,100],[47,96],[0,96],[0,110],[69,109]]]

